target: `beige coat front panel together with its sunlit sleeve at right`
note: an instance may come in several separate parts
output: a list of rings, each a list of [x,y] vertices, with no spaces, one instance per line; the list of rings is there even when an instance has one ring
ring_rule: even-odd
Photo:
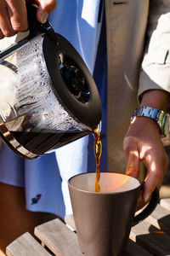
[[[170,92],[170,0],[105,0],[105,11],[108,171],[125,172],[122,143],[137,95],[150,89]],[[148,44],[142,62],[146,24]]]

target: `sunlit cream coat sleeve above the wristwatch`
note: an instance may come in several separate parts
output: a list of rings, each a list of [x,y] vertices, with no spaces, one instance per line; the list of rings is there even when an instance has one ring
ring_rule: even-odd
[[[145,90],[170,92],[170,2],[152,2],[147,38],[138,95],[141,96]]]

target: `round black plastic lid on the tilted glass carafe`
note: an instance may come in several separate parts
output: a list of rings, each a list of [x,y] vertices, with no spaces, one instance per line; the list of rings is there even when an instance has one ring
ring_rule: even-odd
[[[45,35],[42,44],[54,94],[60,96],[76,119],[94,129],[102,113],[94,79],[82,57],[65,38],[54,33],[54,40]]]

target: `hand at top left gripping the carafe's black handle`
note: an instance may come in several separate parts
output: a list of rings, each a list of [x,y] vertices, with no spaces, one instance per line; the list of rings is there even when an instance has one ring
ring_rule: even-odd
[[[56,0],[0,0],[0,39],[28,29],[26,3],[38,5],[37,20],[42,23],[56,7]]]

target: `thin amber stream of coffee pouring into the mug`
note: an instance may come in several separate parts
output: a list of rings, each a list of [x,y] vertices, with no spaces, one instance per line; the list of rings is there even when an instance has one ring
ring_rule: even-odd
[[[94,155],[96,159],[96,178],[95,178],[95,192],[99,192],[99,177],[100,177],[100,166],[99,160],[102,152],[102,143],[99,135],[99,128],[94,130]]]

